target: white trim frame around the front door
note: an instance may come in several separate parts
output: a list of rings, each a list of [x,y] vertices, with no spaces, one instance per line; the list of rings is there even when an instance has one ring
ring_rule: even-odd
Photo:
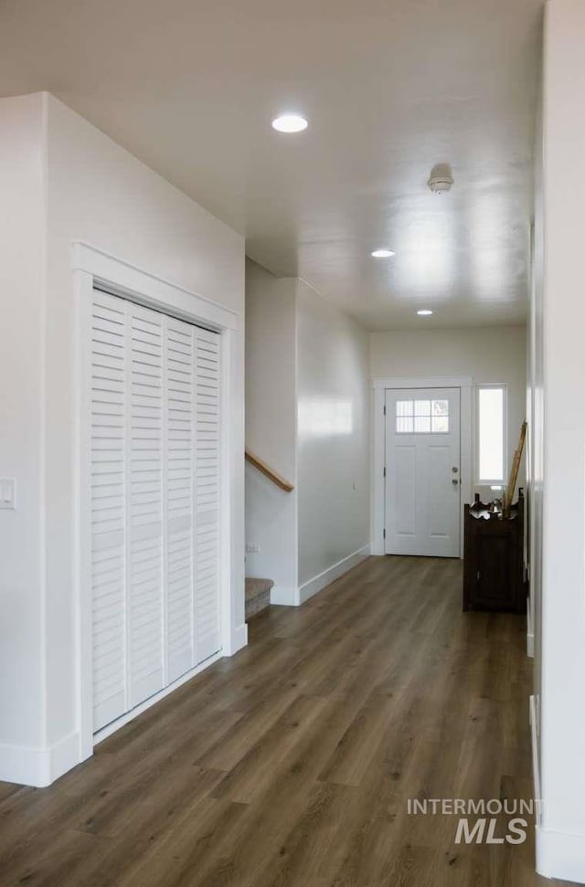
[[[386,503],[384,495],[384,461],[386,421],[384,404],[387,388],[459,388],[461,392],[461,521],[460,557],[463,557],[463,502],[471,502],[473,494],[473,377],[472,376],[408,376],[378,377],[371,380],[372,405],[372,474],[371,520],[372,554],[385,554],[384,528]]]

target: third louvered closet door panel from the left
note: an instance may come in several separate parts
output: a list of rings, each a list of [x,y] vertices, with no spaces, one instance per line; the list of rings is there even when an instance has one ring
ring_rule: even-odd
[[[193,532],[195,329],[166,318],[167,680],[195,664]]]

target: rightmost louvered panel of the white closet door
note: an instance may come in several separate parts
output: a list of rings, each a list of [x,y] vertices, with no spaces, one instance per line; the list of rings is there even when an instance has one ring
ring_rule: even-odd
[[[221,647],[219,631],[219,336],[196,328],[197,662]]]

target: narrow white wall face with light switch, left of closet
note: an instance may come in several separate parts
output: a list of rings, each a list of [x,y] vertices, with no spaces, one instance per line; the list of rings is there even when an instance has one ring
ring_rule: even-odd
[[[0,779],[23,746],[44,742],[44,148],[38,95],[0,101]]]

